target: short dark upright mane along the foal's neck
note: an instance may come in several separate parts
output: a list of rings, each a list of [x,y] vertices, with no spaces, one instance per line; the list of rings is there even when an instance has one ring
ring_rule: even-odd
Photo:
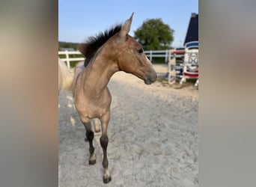
[[[122,25],[116,25],[114,28],[110,28],[108,31],[100,32],[95,37],[88,37],[85,43],[79,46],[79,51],[85,56],[85,67],[94,57],[95,53],[110,37],[114,36],[116,33],[121,31]]]

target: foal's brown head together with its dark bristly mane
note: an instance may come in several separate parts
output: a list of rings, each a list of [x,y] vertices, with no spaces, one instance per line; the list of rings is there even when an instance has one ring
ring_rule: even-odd
[[[141,44],[128,34],[132,16],[124,25],[118,25],[112,30],[100,33],[97,37],[89,37],[79,50],[85,55],[85,66],[91,63],[93,57],[105,54],[107,58],[105,60],[114,62],[119,70],[132,73],[150,85],[156,82],[156,71],[144,54]]]

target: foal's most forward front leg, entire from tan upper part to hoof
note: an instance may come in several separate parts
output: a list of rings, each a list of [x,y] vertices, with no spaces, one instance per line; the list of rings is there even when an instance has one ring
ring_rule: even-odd
[[[104,168],[103,183],[109,183],[112,180],[109,173],[109,161],[107,157],[107,147],[109,143],[107,129],[109,124],[109,118],[110,118],[110,113],[107,112],[100,119],[101,126],[102,126],[102,136],[100,137],[100,145],[103,148],[103,168]]]

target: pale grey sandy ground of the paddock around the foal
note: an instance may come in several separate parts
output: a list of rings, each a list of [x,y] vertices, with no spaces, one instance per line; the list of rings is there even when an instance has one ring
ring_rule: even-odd
[[[159,76],[165,65],[155,65]],[[127,73],[109,82],[109,170],[103,183],[100,133],[94,136],[96,165],[89,165],[85,129],[73,107],[72,94],[59,99],[59,186],[198,186],[198,90],[166,81],[144,85]]]

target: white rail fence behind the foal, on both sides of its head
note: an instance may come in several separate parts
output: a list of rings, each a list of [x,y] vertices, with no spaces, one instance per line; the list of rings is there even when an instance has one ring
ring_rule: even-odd
[[[144,51],[144,53],[147,55],[147,58],[152,61],[152,58],[165,58],[165,63],[168,62],[168,56],[169,56],[169,50],[157,50],[157,51]],[[70,58],[70,55],[82,55],[79,51],[64,51],[64,52],[58,52],[58,55],[66,55],[66,58],[61,58],[62,61],[67,62],[67,67],[70,68],[70,61],[84,61],[85,58]],[[182,55],[181,55],[182,56]]]

